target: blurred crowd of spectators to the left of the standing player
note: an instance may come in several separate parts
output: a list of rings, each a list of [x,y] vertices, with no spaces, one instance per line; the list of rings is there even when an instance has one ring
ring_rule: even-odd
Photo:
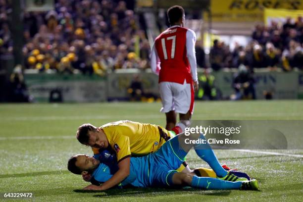
[[[5,22],[9,10],[1,0],[1,54],[12,52]],[[147,68],[150,47],[139,24],[127,1],[58,0],[52,11],[24,13],[24,63],[41,71],[100,75],[109,69]]]

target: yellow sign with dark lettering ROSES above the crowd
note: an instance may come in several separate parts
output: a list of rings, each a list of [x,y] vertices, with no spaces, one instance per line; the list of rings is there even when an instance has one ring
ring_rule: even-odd
[[[303,0],[210,0],[214,22],[262,22],[264,8],[303,10]]]

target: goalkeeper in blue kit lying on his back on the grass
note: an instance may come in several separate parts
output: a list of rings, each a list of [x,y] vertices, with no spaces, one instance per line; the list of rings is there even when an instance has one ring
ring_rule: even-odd
[[[193,137],[194,136],[194,137]],[[192,139],[204,139],[203,135],[192,135]],[[132,185],[135,187],[185,187],[191,186],[200,189],[245,189],[257,190],[256,180],[251,181],[224,181],[217,178],[198,177],[189,173],[179,173],[177,169],[184,161],[190,149],[194,148],[199,157],[211,155],[213,151],[209,145],[183,144],[184,133],[167,141],[157,152],[142,157],[131,157],[130,172],[126,179],[121,182],[122,186]],[[98,156],[95,156],[98,158]],[[74,174],[92,173],[92,176],[100,183],[111,178],[117,171],[116,164],[101,162],[99,159],[84,154],[72,156],[68,161],[68,170]],[[224,170],[221,166],[219,166]],[[218,167],[216,167],[219,169]],[[227,172],[224,170],[224,172]],[[228,172],[227,172],[228,173]],[[227,178],[237,177],[228,173]],[[234,181],[231,179],[231,181]],[[89,185],[85,190],[106,190],[107,188],[97,185]]]

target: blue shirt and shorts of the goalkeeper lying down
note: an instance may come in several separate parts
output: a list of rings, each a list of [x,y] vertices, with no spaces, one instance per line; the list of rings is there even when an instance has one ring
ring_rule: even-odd
[[[157,152],[142,157],[131,157],[130,174],[121,182],[122,186],[135,187],[167,187],[172,184],[172,174],[185,160],[187,152],[179,147],[178,137],[167,141]],[[106,161],[102,154],[94,155],[101,164],[93,172],[92,177],[98,182],[105,182],[117,172],[116,161]],[[113,159],[113,158],[112,158]]]

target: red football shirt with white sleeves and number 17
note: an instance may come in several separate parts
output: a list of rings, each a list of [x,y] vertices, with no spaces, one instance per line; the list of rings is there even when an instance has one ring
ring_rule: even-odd
[[[168,28],[155,39],[151,68],[159,75],[159,83],[197,81],[195,43],[195,32],[180,26]]]

